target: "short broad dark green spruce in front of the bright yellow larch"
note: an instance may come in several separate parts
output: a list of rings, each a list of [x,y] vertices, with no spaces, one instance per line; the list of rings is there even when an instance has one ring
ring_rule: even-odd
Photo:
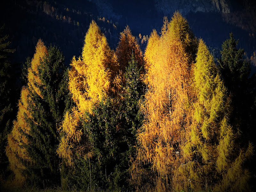
[[[90,171],[92,186],[104,186],[110,190],[121,190],[125,185],[121,163],[124,151],[122,145],[127,145],[121,125],[121,112],[111,98],[103,98],[99,106],[92,109],[93,115],[87,114],[84,122],[84,134],[91,146],[92,156],[86,161]],[[90,163],[89,163],[90,161]],[[89,173],[89,172],[88,172]],[[87,173],[87,174],[88,174]]]

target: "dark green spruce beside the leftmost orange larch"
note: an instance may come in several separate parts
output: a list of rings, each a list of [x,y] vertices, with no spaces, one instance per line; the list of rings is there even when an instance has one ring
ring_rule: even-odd
[[[64,66],[64,56],[56,47],[48,48],[48,55],[40,61],[38,72],[41,84],[37,86],[42,98],[34,90],[29,90],[29,112],[32,117],[26,117],[30,127],[29,135],[26,135],[29,143],[26,149],[35,163],[26,165],[26,175],[29,182],[40,187],[50,187],[60,185],[60,159],[56,155],[59,143],[57,130],[70,102],[68,70]]]

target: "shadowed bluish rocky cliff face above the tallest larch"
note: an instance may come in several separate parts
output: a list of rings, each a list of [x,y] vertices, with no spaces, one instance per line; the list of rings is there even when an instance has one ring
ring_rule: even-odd
[[[154,0],[156,9],[172,15],[178,11],[183,15],[189,12],[230,12],[229,0]]]

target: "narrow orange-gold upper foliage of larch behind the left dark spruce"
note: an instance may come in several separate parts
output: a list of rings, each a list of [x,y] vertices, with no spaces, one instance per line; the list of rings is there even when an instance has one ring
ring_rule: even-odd
[[[34,54],[34,57],[31,60],[31,67],[28,68],[28,86],[29,88],[33,88],[33,90],[35,90],[35,92],[39,96],[41,96],[41,93],[39,91],[39,88],[35,85],[34,81],[36,82],[36,84],[39,85],[41,83],[38,76],[37,67],[39,66],[40,60],[43,58],[45,54],[47,54],[47,48],[44,45],[43,41],[39,39],[36,44],[36,53]]]

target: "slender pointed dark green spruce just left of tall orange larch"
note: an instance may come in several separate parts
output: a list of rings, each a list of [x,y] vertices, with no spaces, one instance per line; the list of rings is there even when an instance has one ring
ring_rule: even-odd
[[[125,142],[127,142],[128,144],[128,148],[124,148],[126,150],[124,154],[126,160],[124,161],[124,163],[126,163],[128,160],[132,162],[135,159],[136,135],[144,120],[144,116],[140,110],[140,105],[144,100],[146,86],[142,81],[140,75],[143,66],[141,66],[140,68],[139,67],[140,65],[138,64],[137,60],[135,60],[132,54],[131,60],[128,62],[128,66],[126,67],[126,72],[124,74],[124,99],[122,100],[120,105],[120,110],[123,111],[123,134],[125,136]],[[129,163],[129,165],[130,173],[132,164]],[[123,170],[126,170],[125,166],[123,167]],[[127,172],[124,171],[124,173],[127,176]]]

